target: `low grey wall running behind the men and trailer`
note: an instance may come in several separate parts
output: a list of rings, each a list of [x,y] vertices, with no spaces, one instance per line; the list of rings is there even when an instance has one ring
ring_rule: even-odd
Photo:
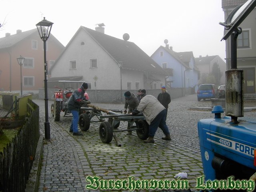
[[[54,91],[58,89],[48,89],[48,99],[54,99]],[[124,102],[124,92],[127,90],[122,90],[122,99]],[[121,102],[121,90],[86,90],[89,95],[90,102],[96,103],[120,103]],[[137,95],[137,90],[130,90],[133,94]],[[157,98],[158,94],[161,92],[160,89],[149,89],[146,90],[146,94],[153,95]],[[185,89],[182,88],[167,88],[167,92],[170,94],[171,99],[182,97],[185,95]],[[193,94],[194,88],[186,88],[186,95]],[[39,99],[44,99],[44,89],[39,89]]]

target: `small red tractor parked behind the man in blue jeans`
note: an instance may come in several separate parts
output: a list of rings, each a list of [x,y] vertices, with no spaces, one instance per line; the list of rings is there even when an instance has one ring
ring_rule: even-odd
[[[64,116],[69,115],[70,111],[67,108],[68,99],[74,92],[72,87],[66,87],[65,90],[59,88],[59,91],[54,92],[54,103],[51,105],[52,116],[54,116],[54,121],[60,120],[60,112],[64,112]]]

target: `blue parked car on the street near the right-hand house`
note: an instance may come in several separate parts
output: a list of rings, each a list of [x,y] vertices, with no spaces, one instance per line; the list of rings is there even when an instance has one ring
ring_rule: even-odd
[[[197,90],[197,100],[215,98],[216,89],[217,86],[214,84],[201,84]]]

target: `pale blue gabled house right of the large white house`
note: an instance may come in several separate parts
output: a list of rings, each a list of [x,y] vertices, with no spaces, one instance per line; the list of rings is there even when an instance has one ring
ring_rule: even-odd
[[[169,45],[160,46],[151,58],[167,73],[166,86],[194,88],[198,86],[198,70],[194,66],[193,52],[174,52]]]

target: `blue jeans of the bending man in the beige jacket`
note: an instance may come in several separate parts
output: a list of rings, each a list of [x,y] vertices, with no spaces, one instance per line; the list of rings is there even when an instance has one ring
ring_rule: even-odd
[[[154,137],[156,130],[159,127],[162,129],[165,135],[170,134],[169,128],[166,125],[166,109],[162,110],[158,115],[150,122],[148,136]]]

